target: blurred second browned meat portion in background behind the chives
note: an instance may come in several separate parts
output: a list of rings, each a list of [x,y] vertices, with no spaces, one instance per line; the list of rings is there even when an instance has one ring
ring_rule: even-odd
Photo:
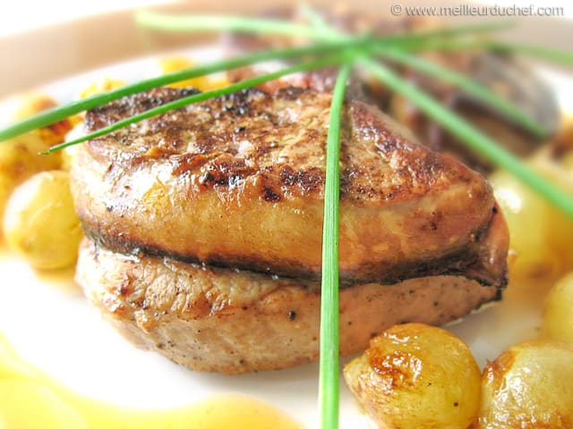
[[[380,36],[405,34],[412,32],[438,29],[440,21],[423,16],[394,17],[379,15],[372,16],[355,13],[346,8],[327,8],[317,11],[322,19],[334,29],[346,33],[360,34],[370,32]],[[308,16],[298,7],[272,8],[263,12],[263,16],[301,24],[310,24]],[[303,38],[285,36],[268,36],[261,34],[229,33],[224,38],[227,53],[230,56],[254,52],[271,47],[295,46],[308,43]],[[450,70],[468,76],[475,82],[489,88],[500,97],[509,99],[523,112],[535,118],[543,126],[546,133],[536,135],[519,123],[511,120],[500,111],[493,109],[478,98],[466,94],[465,91],[443,80],[428,77],[420,71],[399,63],[384,60],[387,66],[397,71],[405,80],[413,82],[432,97],[448,105],[451,110],[463,116],[468,122],[487,134],[498,139],[500,144],[507,147],[517,156],[532,154],[546,139],[560,127],[560,108],[555,91],[536,74],[530,64],[522,63],[513,55],[501,55],[479,50],[464,50],[453,52],[431,51],[417,53],[432,63],[439,63]],[[286,64],[283,63],[282,67]],[[260,75],[270,69],[280,68],[278,63],[261,63],[249,67],[233,69],[227,72],[232,81],[244,80]],[[285,88],[289,84],[302,88],[314,88],[319,91],[331,91],[336,80],[336,69],[308,71],[288,75],[280,80],[261,85],[261,88],[273,92]],[[448,152],[457,156],[464,163],[480,171],[491,172],[495,165],[483,156],[475,154],[455,136],[443,130],[437,122],[428,119],[415,105],[405,97],[384,88],[378,80],[372,79],[366,71],[355,72],[352,77],[354,88],[352,97],[357,94],[362,99],[377,105],[383,112],[388,113],[398,122],[412,130],[423,144],[442,153]]]

